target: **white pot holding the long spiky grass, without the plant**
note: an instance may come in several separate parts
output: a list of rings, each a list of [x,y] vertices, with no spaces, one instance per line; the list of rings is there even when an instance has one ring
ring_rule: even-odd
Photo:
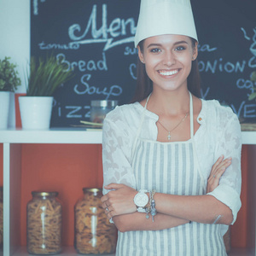
[[[49,129],[52,96],[20,96],[19,103],[22,129]]]

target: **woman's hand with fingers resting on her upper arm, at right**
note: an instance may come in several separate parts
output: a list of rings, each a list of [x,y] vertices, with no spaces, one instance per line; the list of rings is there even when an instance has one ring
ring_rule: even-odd
[[[218,187],[219,179],[226,171],[226,168],[231,165],[232,158],[224,160],[224,155],[221,155],[216,163],[212,166],[212,171],[207,181],[207,193],[212,192]]]

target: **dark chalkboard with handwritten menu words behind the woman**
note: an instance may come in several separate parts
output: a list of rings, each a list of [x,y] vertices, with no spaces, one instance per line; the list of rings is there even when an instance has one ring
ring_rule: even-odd
[[[201,97],[256,122],[256,1],[192,0]],[[54,53],[75,76],[55,92],[51,126],[90,118],[91,100],[131,101],[136,86],[138,0],[31,0],[31,55]]]

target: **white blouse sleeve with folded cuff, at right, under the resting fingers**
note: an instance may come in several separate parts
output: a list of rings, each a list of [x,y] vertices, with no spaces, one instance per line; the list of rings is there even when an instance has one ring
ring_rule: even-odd
[[[222,124],[217,130],[219,136],[215,148],[215,159],[224,154],[224,158],[232,157],[232,163],[220,178],[218,187],[207,195],[213,195],[230,207],[233,214],[232,224],[234,224],[237,212],[241,208],[241,126],[233,112],[231,116],[228,114],[221,119]],[[225,120],[229,120],[228,123],[225,123]]]

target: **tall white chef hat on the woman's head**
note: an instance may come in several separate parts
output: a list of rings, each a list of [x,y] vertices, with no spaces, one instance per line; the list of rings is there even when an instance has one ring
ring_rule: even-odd
[[[177,34],[195,38],[195,22],[189,0],[141,0],[135,47],[145,38]]]

